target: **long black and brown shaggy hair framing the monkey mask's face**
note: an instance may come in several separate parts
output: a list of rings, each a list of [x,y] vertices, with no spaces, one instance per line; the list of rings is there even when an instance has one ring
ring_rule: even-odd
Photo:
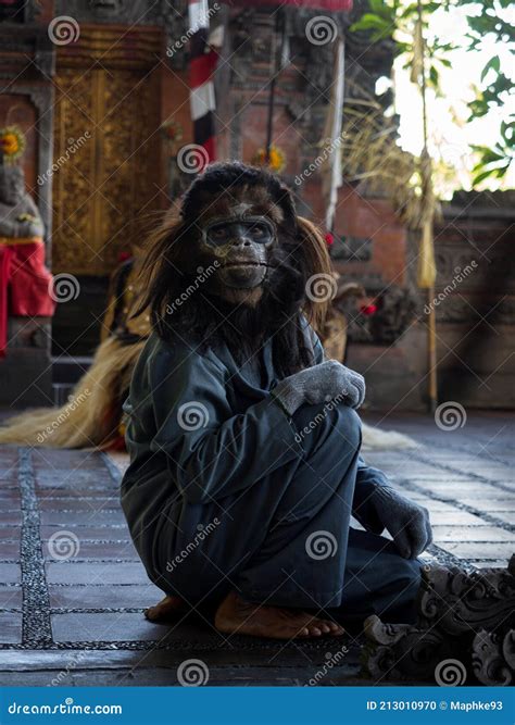
[[[266,215],[278,230],[255,307],[231,304],[199,284],[199,266],[205,263],[200,228],[238,204]],[[272,339],[274,364],[282,376],[313,364],[301,314],[322,328],[328,301],[310,299],[306,289],[314,275],[331,274],[327,246],[311,222],[297,216],[291,191],[269,172],[241,163],[209,166],[184,196],[179,213],[168,213],[149,239],[141,274],[147,292],[137,312],[150,309],[152,327],[163,339],[179,335],[200,349],[225,342],[239,363]],[[188,288],[196,291],[187,295]]]

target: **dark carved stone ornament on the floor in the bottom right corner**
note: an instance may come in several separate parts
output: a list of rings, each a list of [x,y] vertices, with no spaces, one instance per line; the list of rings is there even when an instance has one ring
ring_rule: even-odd
[[[416,624],[366,620],[365,670],[376,679],[463,685],[475,677],[483,685],[510,685],[514,626],[515,555],[507,568],[426,566]]]

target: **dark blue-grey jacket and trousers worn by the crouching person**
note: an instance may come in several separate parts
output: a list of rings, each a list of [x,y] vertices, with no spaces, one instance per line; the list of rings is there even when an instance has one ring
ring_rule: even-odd
[[[315,361],[323,350],[306,327]],[[239,367],[226,347],[200,353],[153,334],[137,363],[122,503],[149,577],[192,607],[230,589],[250,601],[341,608],[407,620],[419,563],[366,523],[386,482],[359,455],[361,424],[342,403],[291,418],[271,396],[272,343]]]

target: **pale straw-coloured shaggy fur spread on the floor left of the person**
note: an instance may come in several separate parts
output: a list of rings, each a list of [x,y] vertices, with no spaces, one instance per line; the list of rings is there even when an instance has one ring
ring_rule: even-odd
[[[16,415],[0,427],[0,443],[109,448],[120,438],[123,397],[143,345],[123,345],[114,337],[104,340],[62,408]]]

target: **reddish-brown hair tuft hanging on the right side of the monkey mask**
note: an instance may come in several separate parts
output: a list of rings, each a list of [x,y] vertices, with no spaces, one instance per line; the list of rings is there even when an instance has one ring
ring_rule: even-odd
[[[331,263],[327,245],[317,227],[304,218],[297,217],[298,238],[301,242],[301,250],[303,254],[304,267],[304,284],[307,286],[324,290],[330,290],[334,284],[334,276],[331,271]],[[312,277],[316,279],[309,282]],[[316,284],[318,280],[318,284]],[[314,299],[311,299],[311,298]],[[329,293],[322,293],[317,299],[316,295],[307,296],[305,300],[304,314],[310,324],[321,332],[324,327],[327,311],[329,309],[331,297]]]

